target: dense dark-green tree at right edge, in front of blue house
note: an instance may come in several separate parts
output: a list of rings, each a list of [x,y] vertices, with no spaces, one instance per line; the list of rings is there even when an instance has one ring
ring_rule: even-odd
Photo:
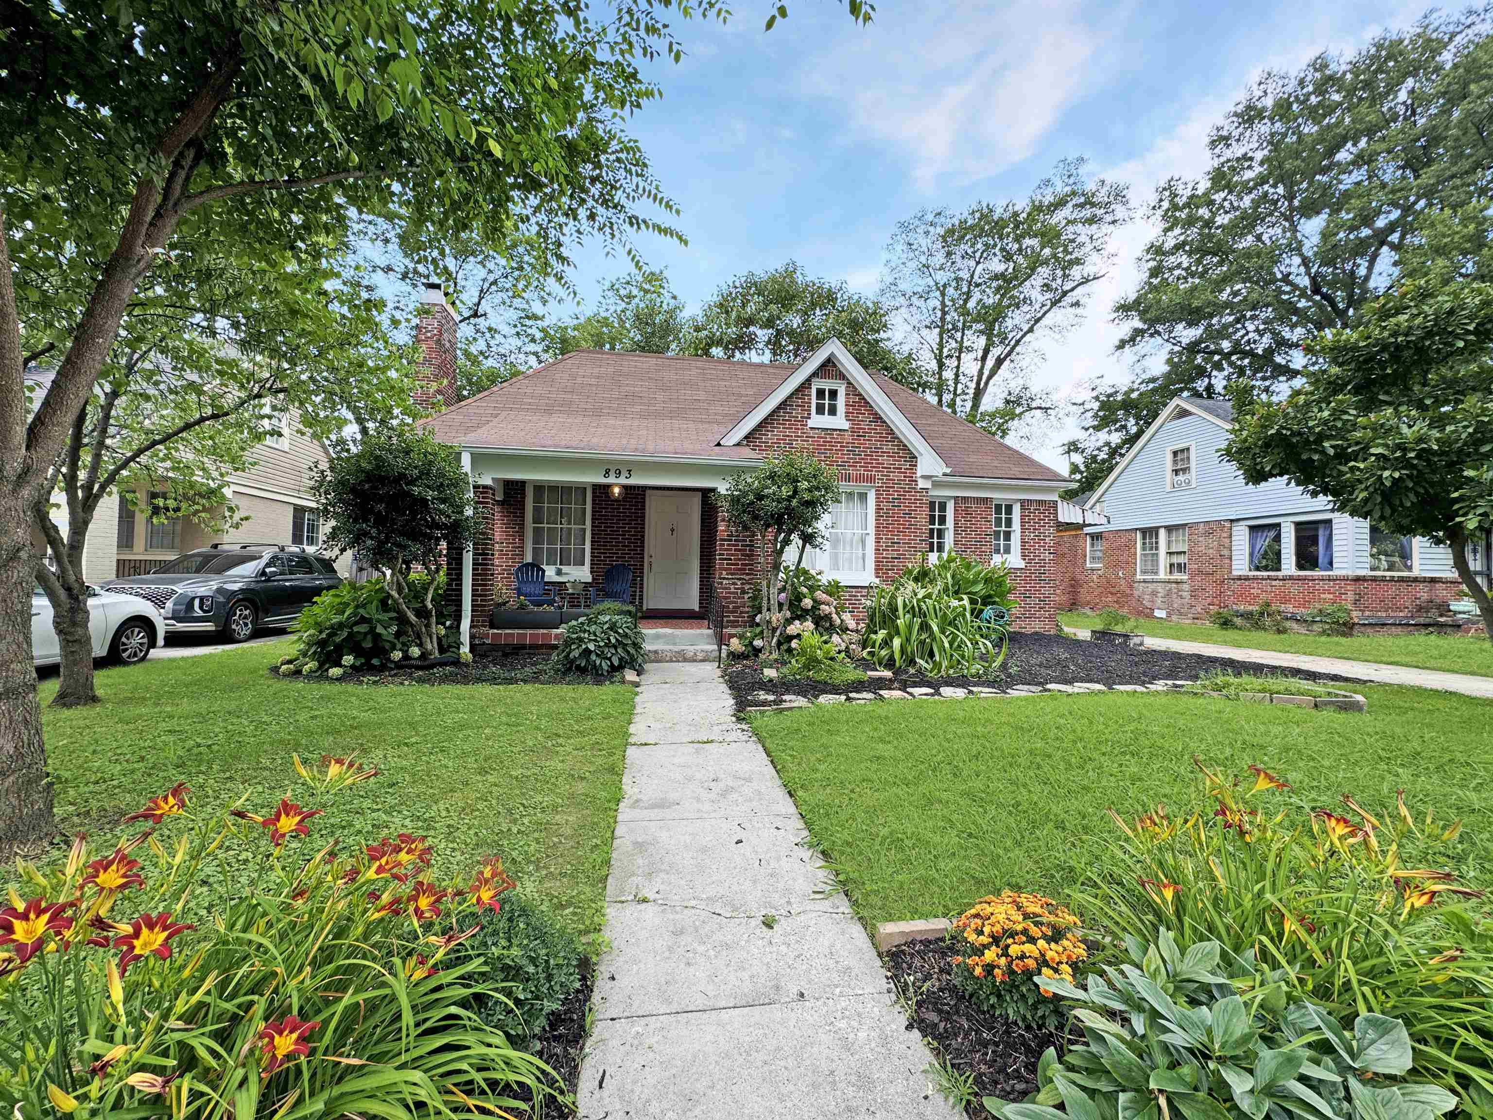
[[[1493,602],[1468,564],[1468,539],[1493,526],[1493,284],[1405,282],[1306,348],[1324,367],[1242,415],[1224,454],[1248,482],[1287,478],[1451,545],[1493,638]]]

